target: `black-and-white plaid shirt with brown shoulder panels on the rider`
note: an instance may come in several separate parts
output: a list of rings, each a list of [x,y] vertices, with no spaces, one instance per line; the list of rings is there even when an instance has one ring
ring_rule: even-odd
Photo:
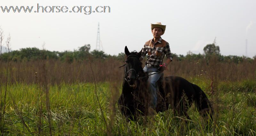
[[[161,37],[154,43],[154,39],[147,41],[142,49],[141,58],[143,59],[148,53],[147,64],[157,66],[163,63],[164,56],[172,61],[172,53],[168,42],[164,41]]]

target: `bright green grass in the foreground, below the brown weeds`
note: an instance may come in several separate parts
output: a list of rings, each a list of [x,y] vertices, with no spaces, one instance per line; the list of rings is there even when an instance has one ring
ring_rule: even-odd
[[[193,79],[193,81],[203,90],[209,86],[202,80]],[[244,81],[236,83],[236,86],[234,84],[232,90],[231,83],[220,82],[216,92],[218,95],[208,96],[215,105],[215,124],[199,116],[194,104],[188,111],[191,121],[187,123],[182,117],[174,116],[171,110],[155,116],[140,117],[136,122],[127,123],[116,104],[121,84],[97,84],[103,115],[96,99],[94,84],[52,85],[49,86],[52,134],[256,136],[256,82]],[[44,87],[17,83],[9,85],[7,90],[4,133],[2,134],[49,135]],[[40,93],[42,93],[42,98]],[[2,102],[2,106],[3,104]],[[41,104],[42,114],[40,114]],[[40,115],[42,115],[41,118]],[[103,117],[107,120],[108,130]],[[25,127],[26,125],[28,128]]]

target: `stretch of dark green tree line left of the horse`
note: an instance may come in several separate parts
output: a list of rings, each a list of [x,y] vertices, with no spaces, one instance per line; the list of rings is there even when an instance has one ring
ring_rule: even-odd
[[[4,52],[1,54],[2,61],[8,60],[8,53],[9,53],[9,60],[17,62],[17,61],[32,61],[38,59],[51,59],[51,60],[61,60],[61,61],[68,61],[73,62],[73,60],[86,60],[88,59],[89,55],[92,58],[96,59],[106,59],[109,57],[113,57],[116,59],[123,59],[124,54],[119,53],[116,55],[107,55],[103,51],[93,50],[90,52],[91,46],[90,44],[85,44],[82,47],[79,47],[78,50],[74,51],[48,51],[48,50],[40,50],[36,47],[33,48],[21,48],[20,50],[14,50],[10,52]]]

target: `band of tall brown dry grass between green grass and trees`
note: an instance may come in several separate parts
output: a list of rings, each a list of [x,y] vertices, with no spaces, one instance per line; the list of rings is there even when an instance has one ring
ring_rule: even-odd
[[[214,61],[215,62],[215,61]],[[210,67],[209,67],[210,63]],[[174,60],[168,66],[169,70],[164,71],[165,76],[174,75],[182,76],[186,79],[197,76],[198,78],[209,78],[209,74],[220,80],[231,79],[230,69],[232,67],[233,81],[256,80],[256,59],[252,62],[244,60],[238,64],[230,62],[216,62],[212,64],[207,60]],[[105,81],[120,81],[122,80],[124,61],[115,59],[92,59],[92,68],[95,72],[95,80],[97,82]],[[7,62],[2,62],[3,81],[6,79]],[[10,62],[10,72],[8,79],[10,83],[28,83],[34,84],[34,71],[39,72],[41,65],[38,61]],[[51,76],[48,78],[49,84],[76,83],[76,82],[93,82],[93,75],[90,68],[90,63],[87,60],[74,60],[72,63],[62,62],[60,60],[45,60],[45,68]],[[212,70],[215,70],[214,73]],[[209,74],[208,74],[209,73]],[[41,73],[38,73],[39,75]]]

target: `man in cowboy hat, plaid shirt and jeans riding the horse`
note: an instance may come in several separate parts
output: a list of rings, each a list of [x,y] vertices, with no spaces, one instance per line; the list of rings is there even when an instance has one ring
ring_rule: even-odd
[[[162,25],[160,22],[151,24],[153,39],[150,39],[145,43],[140,58],[140,60],[143,60],[143,58],[148,53],[148,60],[145,63],[143,70],[144,72],[148,72],[148,75],[156,73],[148,77],[149,96],[151,97],[149,107],[153,109],[156,107],[157,101],[156,82],[160,77],[163,77],[162,72],[165,70],[165,67],[168,66],[172,61],[172,53],[169,43],[161,38],[161,36],[164,34],[165,27],[166,25]],[[167,59],[163,64],[165,55]],[[160,67],[160,65],[162,65],[162,67]]]

